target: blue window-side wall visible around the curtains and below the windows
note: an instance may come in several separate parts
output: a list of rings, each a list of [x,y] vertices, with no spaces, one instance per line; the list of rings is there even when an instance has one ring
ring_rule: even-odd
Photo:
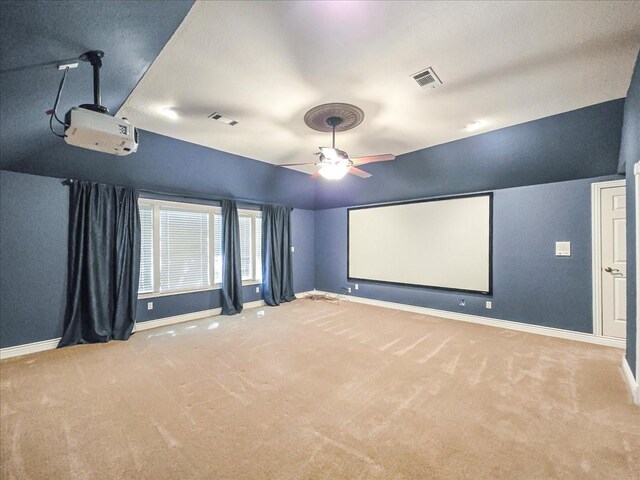
[[[67,287],[68,188],[60,179],[0,171],[0,348],[60,337]],[[313,289],[313,212],[292,213],[295,290]],[[259,300],[255,285],[244,300]],[[147,302],[153,301],[153,310]],[[220,290],[138,301],[145,321],[217,308]]]

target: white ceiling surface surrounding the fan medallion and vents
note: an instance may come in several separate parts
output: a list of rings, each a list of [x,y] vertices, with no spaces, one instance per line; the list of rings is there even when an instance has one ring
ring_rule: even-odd
[[[624,97],[639,47],[638,2],[204,1],[118,115],[282,164],[330,145],[307,110],[346,102],[365,119],[337,146],[399,155]],[[430,66],[444,82],[435,90],[411,78]]]

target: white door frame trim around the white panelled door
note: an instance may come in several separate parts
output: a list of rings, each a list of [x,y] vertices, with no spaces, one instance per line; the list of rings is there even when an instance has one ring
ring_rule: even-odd
[[[601,193],[605,188],[625,187],[626,181],[610,180],[591,184],[591,277],[593,292],[593,334],[602,335],[602,282],[600,281],[601,264],[601,233],[602,222],[600,219]],[[629,321],[629,319],[627,319]]]

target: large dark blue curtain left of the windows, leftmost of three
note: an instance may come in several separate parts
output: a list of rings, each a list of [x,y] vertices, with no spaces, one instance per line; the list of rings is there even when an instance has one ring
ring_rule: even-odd
[[[127,340],[140,275],[138,192],[72,181],[69,201],[67,311],[58,347]]]

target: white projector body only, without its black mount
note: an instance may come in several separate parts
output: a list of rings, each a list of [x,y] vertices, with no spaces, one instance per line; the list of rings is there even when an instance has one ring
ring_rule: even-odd
[[[69,145],[113,155],[138,150],[138,131],[125,118],[74,107],[65,116],[64,140]]]

